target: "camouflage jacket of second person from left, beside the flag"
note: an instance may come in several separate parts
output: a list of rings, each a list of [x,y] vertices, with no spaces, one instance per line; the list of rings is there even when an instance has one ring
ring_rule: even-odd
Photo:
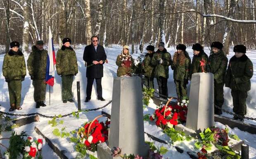
[[[36,46],[32,47],[32,52],[28,56],[28,72],[33,79],[45,79],[46,64],[48,53],[47,50],[38,50]]]

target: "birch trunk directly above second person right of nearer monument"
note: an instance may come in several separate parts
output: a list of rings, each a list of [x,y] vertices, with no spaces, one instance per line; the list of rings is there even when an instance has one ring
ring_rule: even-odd
[[[164,10],[165,10],[165,6],[164,6],[164,1],[165,0],[159,0],[159,28],[160,28],[160,37],[161,37],[161,42],[164,42],[164,44],[166,44],[165,41],[165,31],[164,31]]]

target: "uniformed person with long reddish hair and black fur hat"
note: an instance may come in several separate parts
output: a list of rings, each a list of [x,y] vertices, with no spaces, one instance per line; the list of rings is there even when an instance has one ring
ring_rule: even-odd
[[[176,93],[180,101],[187,97],[187,84],[189,80],[189,60],[185,56],[186,46],[178,44],[177,52],[173,56],[171,68],[173,70],[173,79],[176,86]]]

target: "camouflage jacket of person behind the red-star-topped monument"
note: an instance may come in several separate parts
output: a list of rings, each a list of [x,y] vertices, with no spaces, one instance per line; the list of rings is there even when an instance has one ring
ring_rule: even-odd
[[[198,55],[194,55],[191,63],[191,70],[190,70],[190,79],[193,73],[202,72],[201,62],[204,61],[204,72],[207,72],[207,63],[208,63],[208,56],[204,53],[204,51],[200,52]]]

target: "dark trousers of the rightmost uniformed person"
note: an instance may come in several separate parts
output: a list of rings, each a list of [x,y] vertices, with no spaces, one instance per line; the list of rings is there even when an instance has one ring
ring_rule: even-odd
[[[237,115],[246,115],[247,92],[232,89],[231,95],[233,98],[233,112],[235,112]]]

